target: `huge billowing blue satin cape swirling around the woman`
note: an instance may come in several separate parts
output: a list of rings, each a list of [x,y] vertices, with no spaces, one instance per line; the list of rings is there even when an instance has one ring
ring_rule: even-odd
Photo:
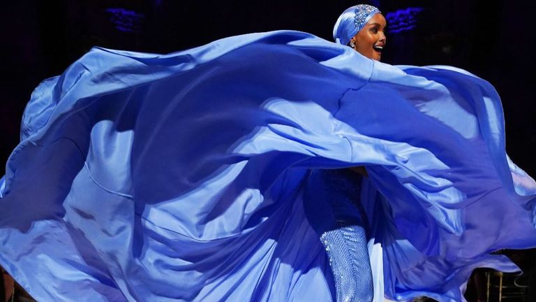
[[[366,166],[378,292],[461,301],[472,268],[516,271],[490,252],[536,246],[536,184],[504,134],[475,75],[301,32],[94,48],[31,96],[1,184],[0,265],[38,301],[331,301],[304,212],[323,201],[305,184]]]

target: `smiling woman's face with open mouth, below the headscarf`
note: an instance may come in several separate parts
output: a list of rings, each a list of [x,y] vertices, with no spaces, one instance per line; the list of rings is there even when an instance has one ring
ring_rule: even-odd
[[[382,14],[377,13],[371,20],[350,40],[355,44],[354,49],[360,54],[370,59],[380,61],[382,50],[387,38],[385,38],[385,27],[387,22]]]

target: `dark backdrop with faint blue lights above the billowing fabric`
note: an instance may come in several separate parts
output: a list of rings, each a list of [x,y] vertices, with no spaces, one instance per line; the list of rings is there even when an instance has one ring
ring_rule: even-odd
[[[236,34],[296,29],[332,40],[355,1],[22,0],[0,3],[0,162],[18,142],[38,83],[93,45],[167,53]],[[489,80],[505,109],[507,151],[536,175],[534,1],[362,1],[387,16],[389,64],[446,64]]]

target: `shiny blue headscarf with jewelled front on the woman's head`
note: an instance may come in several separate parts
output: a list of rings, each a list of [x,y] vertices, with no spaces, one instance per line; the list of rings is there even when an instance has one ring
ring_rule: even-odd
[[[367,4],[358,4],[346,9],[333,27],[333,38],[336,43],[348,45],[350,39],[355,36],[368,22],[371,17],[381,13],[378,8]]]

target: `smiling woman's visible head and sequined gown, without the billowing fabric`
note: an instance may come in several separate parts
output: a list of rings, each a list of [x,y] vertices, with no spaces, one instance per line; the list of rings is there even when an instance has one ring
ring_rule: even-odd
[[[336,43],[380,61],[387,40],[385,26],[385,17],[378,8],[359,4],[338,17],[333,36]],[[366,176],[362,166],[350,171]],[[368,222],[359,201],[361,182],[361,178],[348,171],[320,169],[311,171],[306,180],[309,193],[305,194],[304,210],[329,258],[336,301],[372,301],[374,296],[366,238]],[[380,277],[376,278],[375,292],[381,297]]]

